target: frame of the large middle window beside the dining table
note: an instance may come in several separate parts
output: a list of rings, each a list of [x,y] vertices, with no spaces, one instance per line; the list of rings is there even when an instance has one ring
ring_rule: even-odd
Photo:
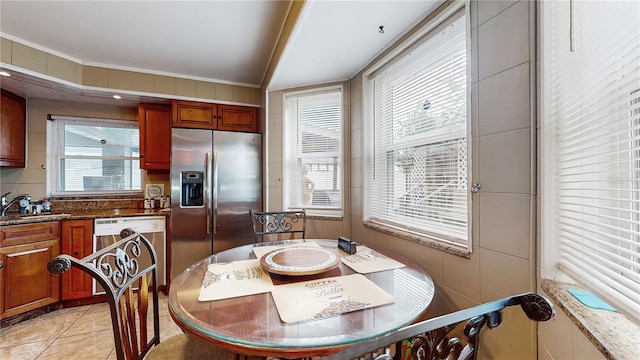
[[[363,196],[363,222],[364,225],[373,228],[378,231],[386,232],[400,238],[405,238],[413,241],[417,241],[418,243],[428,245],[431,247],[435,247],[441,249],[443,251],[447,251],[456,255],[468,257],[472,251],[472,203],[471,203],[471,191],[470,185],[472,178],[472,135],[471,135],[471,26],[470,26],[470,9],[466,2],[453,2],[448,5],[443,5],[443,7],[436,10],[436,13],[426,22],[426,24],[416,30],[412,35],[407,37],[407,40],[403,41],[396,48],[389,51],[389,53],[381,58],[379,61],[374,63],[372,66],[367,68],[363,72],[362,76],[362,84],[363,84],[363,114],[364,114],[364,122],[363,122],[363,138],[370,139],[374,136],[375,125],[373,115],[369,111],[369,106],[371,97],[368,95],[371,91],[370,86],[370,77],[378,72],[380,69],[388,66],[389,64],[400,61],[404,54],[411,51],[412,49],[420,46],[424,41],[426,41],[430,36],[437,34],[438,31],[442,29],[443,26],[447,26],[445,24],[449,24],[455,19],[457,16],[461,16],[465,23],[465,52],[466,52],[466,124],[463,131],[465,131],[466,135],[466,184],[467,184],[467,192],[466,192],[466,239],[453,238],[448,234],[441,233],[433,233],[430,231],[426,231],[425,229],[416,229],[410,228],[406,226],[406,224],[400,223],[391,223],[384,222],[380,220],[373,219],[371,217],[370,207],[371,199],[369,196]],[[455,17],[455,18],[454,18]],[[427,143],[423,143],[422,145],[426,145]],[[370,174],[373,171],[372,167],[372,157],[375,153],[375,144],[365,141],[364,143],[364,193],[369,194],[371,189],[370,184]]]

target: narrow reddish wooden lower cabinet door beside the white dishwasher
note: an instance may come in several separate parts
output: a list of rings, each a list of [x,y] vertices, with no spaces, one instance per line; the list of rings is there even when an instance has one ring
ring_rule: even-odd
[[[65,220],[62,222],[61,252],[75,258],[93,253],[93,221]],[[61,275],[62,300],[91,296],[91,276],[72,268]]]

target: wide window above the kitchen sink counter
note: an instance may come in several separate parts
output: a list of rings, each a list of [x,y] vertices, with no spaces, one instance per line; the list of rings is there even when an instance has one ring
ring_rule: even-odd
[[[122,193],[142,190],[138,124],[72,118],[54,120],[52,193]]]

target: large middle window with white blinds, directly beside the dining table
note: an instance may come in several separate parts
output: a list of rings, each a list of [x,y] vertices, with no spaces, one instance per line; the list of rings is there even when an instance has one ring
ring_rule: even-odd
[[[363,81],[366,223],[471,251],[464,10]]]

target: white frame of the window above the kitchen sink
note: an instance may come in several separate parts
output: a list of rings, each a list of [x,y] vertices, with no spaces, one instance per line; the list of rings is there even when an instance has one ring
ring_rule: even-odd
[[[133,195],[133,194],[141,194],[143,192],[143,180],[144,180],[144,172],[143,169],[140,168],[140,157],[139,156],[100,156],[100,157],[92,157],[94,159],[104,159],[104,160],[125,160],[130,161],[132,169],[137,169],[140,175],[140,179],[138,182],[140,183],[140,189],[114,189],[114,190],[86,190],[86,191],[62,191],[60,190],[60,160],[61,158],[66,158],[66,156],[62,155],[61,152],[64,151],[64,126],[66,124],[79,124],[84,126],[102,126],[102,127],[112,127],[112,128],[127,128],[134,129],[138,131],[138,136],[136,137],[139,141],[139,125],[135,121],[131,120],[121,120],[121,119],[107,119],[107,118],[91,118],[91,117],[80,117],[80,116],[65,116],[65,115],[48,115],[49,124],[47,140],[49,146],[47,147],[51,153],[51,156],[47,158],[47,193],[51,196],[95,196],[95,195]],[[115,125],[115,126],[114,126]],[[139,144],[138,144],[139,146]],[[138,147],[139,149],[139,147]],[[138,150],[139,154],[139,150]],[[82,158],[80,157],[72,157],[72,158]]]

